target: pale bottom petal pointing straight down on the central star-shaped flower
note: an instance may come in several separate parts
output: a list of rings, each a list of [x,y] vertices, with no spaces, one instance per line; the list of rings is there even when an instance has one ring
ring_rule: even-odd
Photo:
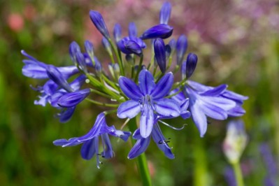
[[[154,113],[149,105],[143,106],[140,119],[140,131],[143,138],[150,136],[154,124]]]

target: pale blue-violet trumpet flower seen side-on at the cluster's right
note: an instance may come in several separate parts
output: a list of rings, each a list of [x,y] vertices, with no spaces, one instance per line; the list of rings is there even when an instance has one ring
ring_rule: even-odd
[[[228,91],[227,85],[208,87],[191,80],[187,80],[183,92],[172,98],[176,101],[189,98],[189,110],[201,137],[207,130],[206,116],[215,120],[226,120],[228,116],[241,116],[245,113],[241,105],[248,99],[247,96]]]

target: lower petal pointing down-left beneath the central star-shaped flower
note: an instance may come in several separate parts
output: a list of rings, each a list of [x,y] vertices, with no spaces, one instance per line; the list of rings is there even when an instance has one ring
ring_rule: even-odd
[[[141,153],[145,152],[145,150],[148,148],[148,145],[150,143],[150,138],[141,138],[138,141],[136,141],[133,148],[131,148],[128,159],[133,159],[135,157],[138,157],[141,155]]]

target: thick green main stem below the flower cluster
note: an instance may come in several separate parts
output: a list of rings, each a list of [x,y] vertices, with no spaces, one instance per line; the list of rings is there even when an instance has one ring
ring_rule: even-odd
[[[130,131],[135,131],[138,127],[136,125],[136,117],[129,120],[129,129]],[[136,141],[134,139],[131,139],[132,144],[134,145]],[[148,162],[146,161],[145,153],[143,152],[141,155],[136,157],[137,160],[137,167],[138,167],[138,173],[141,175],[141,180],[143,181],[143,186],[149,186],[152,185],[150,173],[148,170]]]

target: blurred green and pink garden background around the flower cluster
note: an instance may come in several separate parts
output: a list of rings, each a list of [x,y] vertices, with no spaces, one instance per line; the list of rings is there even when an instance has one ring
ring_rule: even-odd
[[[272,0],[177,0],[169,24],[173,38],[185,34],[187,52],[199,57],[192,80],[229,85],[249,96],[243,116],[249,141],[241,157],[246,185],[278,182],[279,162],[279,2]],[[141,34],[159,22],[164,1],[62,0],[0,1],[0,185],[141,185],[135,160],[128,160],[131,143],[111,138],[115,157],[80,157],[80,146],[52,145],[57,138],[80,136],[92,127],[103,108],[82,103],[70,122],[60,124],[51,106],[35,106],[38,95],[29,85],[43,81],[22,76],[20,50],[47,64],[71,65],[72,41],[94,43],[101,62],[109,57],[101,34],[90,21],[98,10],[110,33],[116,22],[127,35],[134,21]],[[123,120],[109,117],[119,129]],[[162,127],[176,159],[169,160],[150,143],[146,155],[154,185],[229,185],[233,177],[222,152],[228,121],[210,120],[204,138],[190,120],[182,131]],[[183,123],[173,120],[173,123]],[[277,180],[276,180],[277,179]]]

